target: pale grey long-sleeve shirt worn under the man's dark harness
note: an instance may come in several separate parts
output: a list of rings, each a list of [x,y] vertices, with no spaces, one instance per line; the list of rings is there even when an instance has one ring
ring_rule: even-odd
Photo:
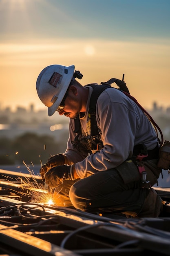
[[[88,110],[92,91],[93,88],[89,86],[86,113],[80,117],[83,135],[90,134]],[[152,150],[158,143],[155,129],[144,112],[116,88],[107,88],[99,95],[96,120],[104,147],[91,155],[83,155],[73,148],[74,119],[69,122],[69,139],[64,155],[69,164],[76,163],[75,170],[80,178],[120,165],[132,157],[135,145],[145,144],[148,150]]]

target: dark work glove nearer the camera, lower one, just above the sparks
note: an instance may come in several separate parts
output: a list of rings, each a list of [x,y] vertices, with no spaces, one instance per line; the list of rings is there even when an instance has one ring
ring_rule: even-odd
[[[59,186],[64,180],[74,180],[72,175],[72,169],[75,168],[75,165],[60,165],[51,168],[45,174],[45,182],[50,187],[55,188]]]

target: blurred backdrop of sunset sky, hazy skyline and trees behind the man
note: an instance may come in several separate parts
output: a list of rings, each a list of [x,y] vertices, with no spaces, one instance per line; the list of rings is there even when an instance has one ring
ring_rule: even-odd
[[[66,149],[68,118],[49,117],[35,88],[51,64],[75,65],[82,85],[125,74],[170,140],[169,10],[169,0],[0,0],[0,168],[40,167]]]

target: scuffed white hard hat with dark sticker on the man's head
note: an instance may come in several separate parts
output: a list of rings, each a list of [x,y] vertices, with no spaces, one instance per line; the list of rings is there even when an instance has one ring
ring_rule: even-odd
[[[39,74],[36,89],[38,97],[48,107],[48,114],[52,116],[68,89],[74,74],[74,65],[50,65]]]

